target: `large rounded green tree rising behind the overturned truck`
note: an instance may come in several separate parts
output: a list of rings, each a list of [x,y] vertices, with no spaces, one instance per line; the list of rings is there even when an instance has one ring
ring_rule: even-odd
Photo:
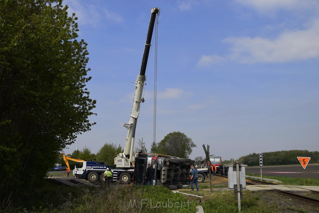
[[[196,144],[184,133],[172,132],[159,142],[157,151],[164,155],[188,158],[194,147],[197,147]]]

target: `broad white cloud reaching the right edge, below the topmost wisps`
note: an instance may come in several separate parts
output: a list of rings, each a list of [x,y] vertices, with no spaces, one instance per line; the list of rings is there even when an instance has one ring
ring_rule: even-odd
[[[289,62],[319,57],[319,19],[307,30],[281,33],[276,39],[229,37],[230,59],[241,63]]]

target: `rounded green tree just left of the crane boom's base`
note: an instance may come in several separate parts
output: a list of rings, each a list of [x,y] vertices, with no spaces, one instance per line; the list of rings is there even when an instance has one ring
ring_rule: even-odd
[[[114,165],[115,156],[122,152],[121,145],[117,146],[114,143],[105,143],[98,153],[96,153],[96,160],[104,162],[106,165]]]

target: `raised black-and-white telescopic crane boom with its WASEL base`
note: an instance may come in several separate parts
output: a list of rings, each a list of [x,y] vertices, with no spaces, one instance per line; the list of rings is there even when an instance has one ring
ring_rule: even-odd
[[[134,140],[135,140],[135,130],[136,130],[136,124],[137,124],[137,118],[140,112],[140,104],[141,102],[144,102],[144,98],[142,98],[143,94],[143,88],[145,85],[145,71],[147,66],[147,60],[150,53],[150,47],[151,47],[151,40],[152,40],[152,34],[154,29],[154,24],[156,20],[156,15],[159,14],[159,8],[155,7],[151,9],[151,18],[150,23],[147,31],[146,36],[146,42],[144,47],[144,53],[141,63],[141,69],[140,73],[137,76],[137,79],[135,80],[135,93],[134,93],[134,101],[130,116],[130,121],[128,123],[125,123],[123,126],[127,128],[127,136],[126,136],[126,143],[124,147],[123,153],[120,153],[117,157],[114,159],[114,164],[116,164],[116,167],[118,168],[125,168],[125,167],[134,167],[132,162],[133,159],[133,149],[134,149]]]

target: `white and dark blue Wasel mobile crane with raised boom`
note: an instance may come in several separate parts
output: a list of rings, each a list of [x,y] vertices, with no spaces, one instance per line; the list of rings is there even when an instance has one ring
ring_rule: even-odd
[[[113,181],[119,180],[123,184],[129,184],[131,182],[132,176],[134,174],[134,140],[135,140],[135,130],[137,124],[137,118],[140,112],[140,104],[144,102],[144,98],[142,98],[143,88],[145,85],[145,72],[146,65],[148,61],[148,56],[151,47],[151,40],[153,29],[155,25],[156,15],[159,14],[159,8],[151,9],[151,18],[148,27],[144,53],[142,58],[142,64],[140,72],[135,80],[135,93],[134,93],[134,101],[131,110],[130,121],[125,123],[123,126],[128,129],[126,143],[123,150],[123,153],[119,153],[115,159],[115,166],[110,165],[90,165],[88,162],[83,162],[83,164],[77,164],[76,168],[73,170],[73,173],[78,178],[85,178],[91,183],[96,183],[100,179],[100,181],[104,180],[103,174],[106,168],[109,168],[113,174]],[[99,162],[102,163],[102,162]],[[112,168],[113,167],[113,168]]]

